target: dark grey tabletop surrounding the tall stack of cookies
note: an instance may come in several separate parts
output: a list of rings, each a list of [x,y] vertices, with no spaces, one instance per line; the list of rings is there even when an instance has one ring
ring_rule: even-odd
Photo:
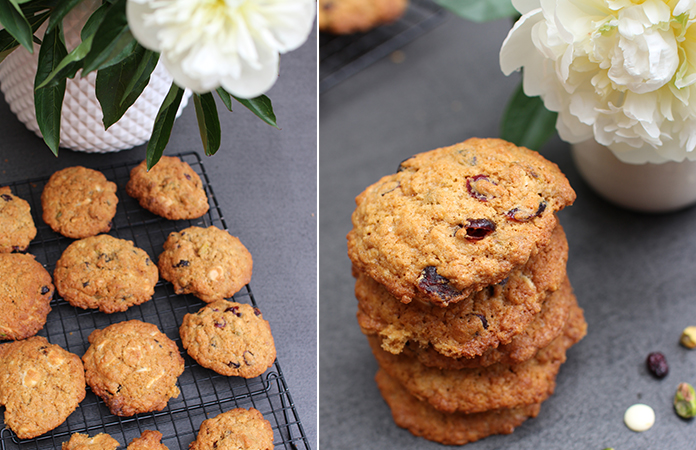
[[[498,65],[510,26],[449,18],[404,47],[403,62],[385,58],[320,98],[322,449],[442,447],[398,428],[379,395],[377,364],[355,319],[345,235],[354,197],[403,159],[472,136],[498,136],[519,81]],[[560,220],[588,335],[568,352],[539,417],[466,448],[694,448],[696,423],[678,418],[671,401],[679,382],[696,383],[696,351],[678,343],[682,329],[696,324],[696,208],[664,215],[622,210],[589,190],[568,144],[555,138],[542,154],[578,194]],[[645,369],[651,351],[671,365],[664,380]],[[623,424],[626,408],[639,401],[657,415],[644,433]]]

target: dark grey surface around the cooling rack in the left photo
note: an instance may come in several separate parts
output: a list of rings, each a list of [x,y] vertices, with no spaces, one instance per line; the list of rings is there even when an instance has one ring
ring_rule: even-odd
[[[317,446],[317,80],[316,33],[281,56],[267,93],[281,130],[239,105],[218,104],[222,146],[205,157],[192,102],[166,154],[196,151],[230,229],[254,258],[251,287],[276,341],[278,360],[310,445]],[[55,158],[0,100],[0,185],[48,177],[73,165],[145,158],[145,146],[111,154],[61,149]]]

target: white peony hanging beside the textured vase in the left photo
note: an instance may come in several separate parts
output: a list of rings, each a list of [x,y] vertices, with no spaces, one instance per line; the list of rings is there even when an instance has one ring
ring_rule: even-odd
[[[135,38],[160,52],[176,84],[257,97],[278,77],[279,54],[307,40],[315,0],[128,0]]]

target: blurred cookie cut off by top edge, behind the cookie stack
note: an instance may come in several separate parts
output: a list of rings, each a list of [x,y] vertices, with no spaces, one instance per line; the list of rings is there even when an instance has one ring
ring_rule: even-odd
[[[365,32],[401,17],[408,0],[319,0],[319,30],[333,34]]]

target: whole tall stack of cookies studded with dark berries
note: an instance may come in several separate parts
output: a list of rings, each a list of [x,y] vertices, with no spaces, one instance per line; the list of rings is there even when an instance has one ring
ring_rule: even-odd
[[[356,198],[358,322],[394,420],[465,444],[539,413],[586,323],[556,212],[558,167],[498,139],[416,155]]]

